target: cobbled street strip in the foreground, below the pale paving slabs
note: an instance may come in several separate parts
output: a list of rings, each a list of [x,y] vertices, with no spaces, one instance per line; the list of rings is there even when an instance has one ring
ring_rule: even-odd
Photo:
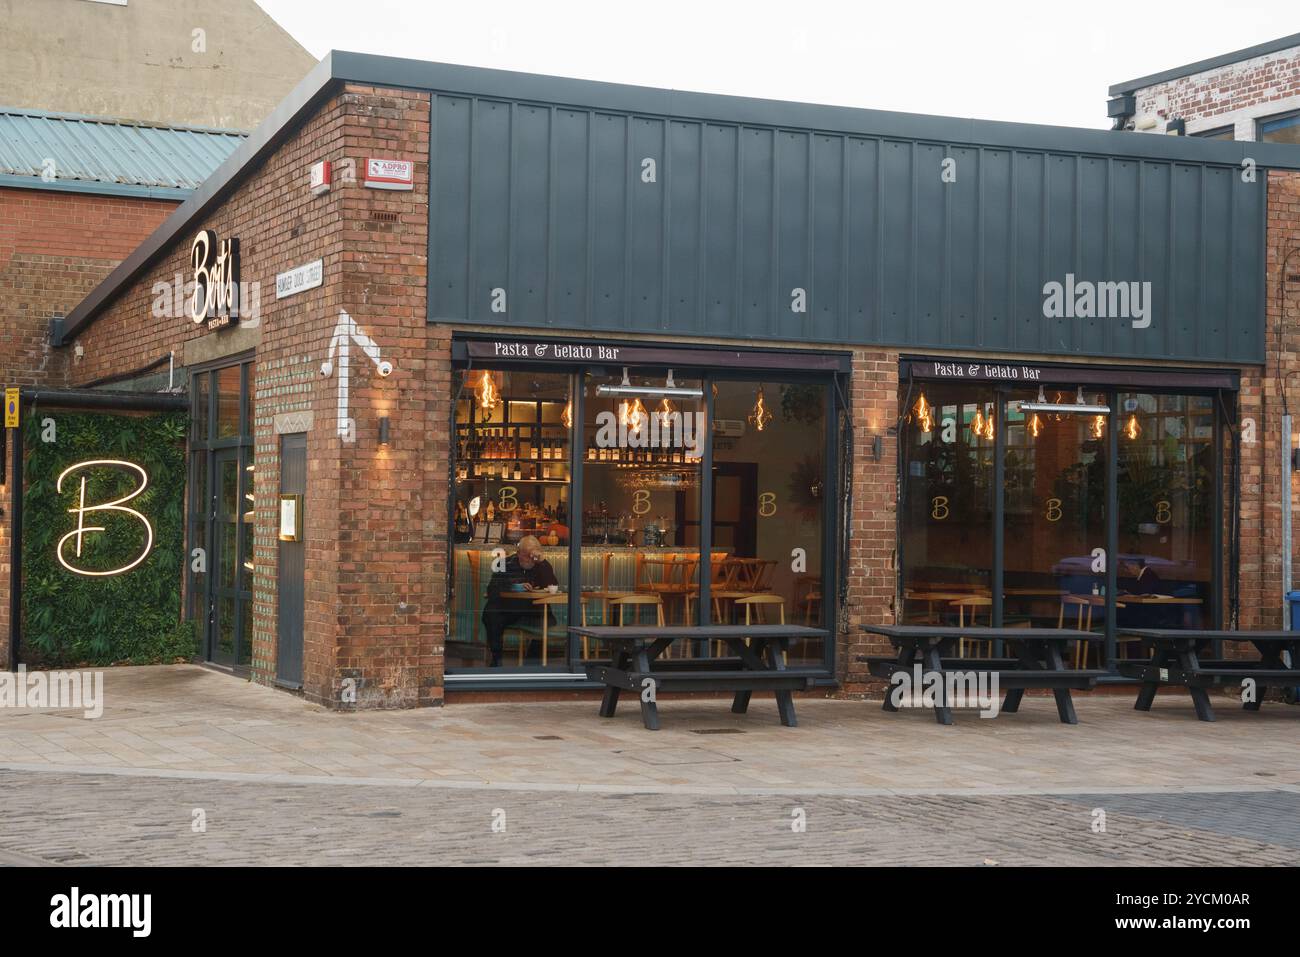
[[[1300,794],[1277,791],[723,798],[0,771],[0,863],[1287,865],[1300,848]]]

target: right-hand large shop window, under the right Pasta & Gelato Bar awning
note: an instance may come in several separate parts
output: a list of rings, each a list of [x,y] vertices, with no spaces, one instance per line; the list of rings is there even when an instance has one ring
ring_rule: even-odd
[[[1121,638],[1124,628],[1212,627],[1213,395],[1065,381],[913,381],[901,395],[902,622],[1104,633],[1114,614]],[[1123,640],[1106,648],[1104,658],[1140,651]]]

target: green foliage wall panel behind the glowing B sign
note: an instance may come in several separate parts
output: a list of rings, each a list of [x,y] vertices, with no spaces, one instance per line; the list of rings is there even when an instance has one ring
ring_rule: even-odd
[[[55,442],[42,441],[53,420]],[[35,410],[26,416],[26,492],[22,505],[22,659],[35,666],[109,664],[170,661],[194,654],[194,632],[181,622],[181,571],[185,560],[183,412],[113,415]],[[86,478],[86,505],[130,494],[139,473],[114,467],[73,472],[56,490],[60,473],[88,459],[133,462],[148,475],[144,492],[125,502],[153,527],[148,557],[130,571],[86,576],[68,571],[58,542],[77,528],[75,508]],[[144,527],[130,515],[87,512],[82,553],[75,540],[64,546],[73,564],[104,571],[138,557]]]

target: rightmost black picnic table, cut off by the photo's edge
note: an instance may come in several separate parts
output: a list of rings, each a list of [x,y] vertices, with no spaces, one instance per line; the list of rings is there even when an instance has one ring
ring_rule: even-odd
[[[1182,685],[1192,696],[1196,716],[1214,720],[1208,688],[1242,684],[1252,679],[1258,688],[1300,687],[1300,632],[1258,631],[1226,632],[1182,628],[1124,628],[1124,635],[1141,638],[1152,651],[1147,661],[1118,662],[1119,674],[1141,681],[1138,711],[1149,711],[1162,684]],[[1216,641],[1249,641],[1260,651],[1258,661],[1238,658],[1201,658]],[[1291,653],[1291,664],[1282,653]],[[1258,711],[1262,696],[1243,702],[1247,711]]]

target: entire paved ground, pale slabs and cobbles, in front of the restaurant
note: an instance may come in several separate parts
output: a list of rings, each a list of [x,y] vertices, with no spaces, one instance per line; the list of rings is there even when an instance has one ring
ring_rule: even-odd
[[[770,698],[666,700],[647,732],[590,700],[337,714],[192,666],[110,670],[98,719],[0,709],[0,866],[1300,857],[1300,709],[1076,705],[1075,727],[1052,698],[940,727],[800,700],[783,728]]]

